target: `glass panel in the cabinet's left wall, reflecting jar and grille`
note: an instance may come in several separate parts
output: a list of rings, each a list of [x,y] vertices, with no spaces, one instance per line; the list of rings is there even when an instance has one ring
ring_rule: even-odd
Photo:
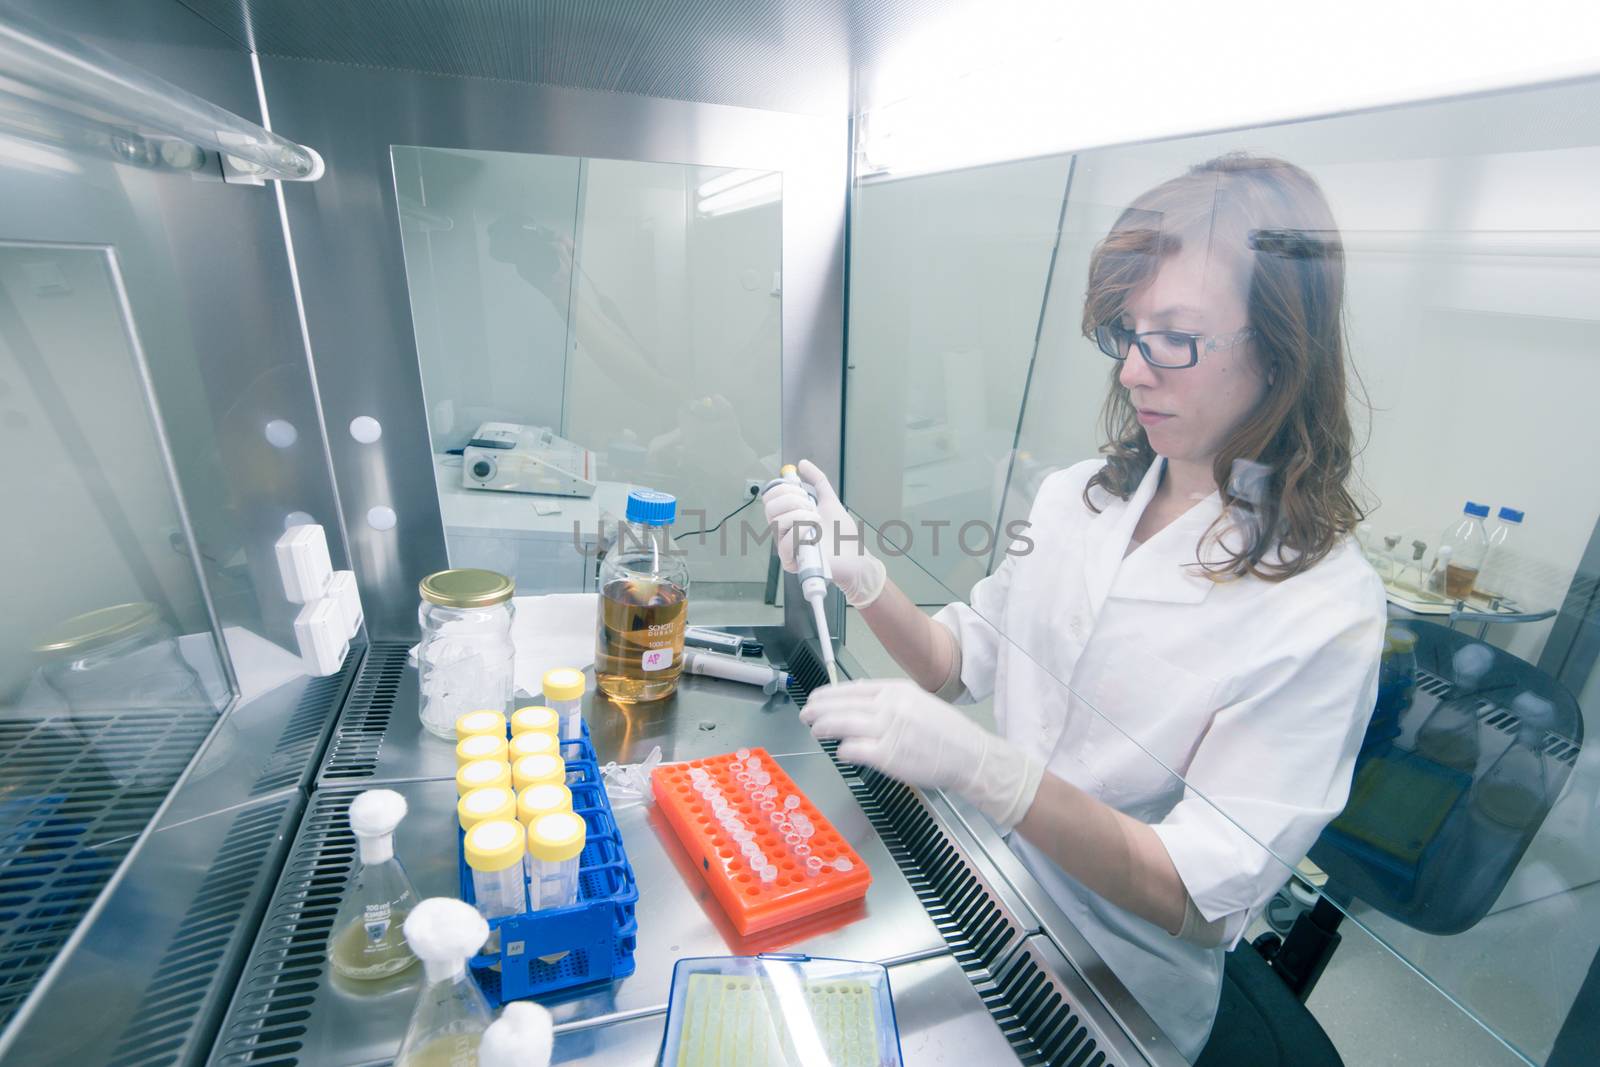
[[[0,243],[0,1025],[232,696],[144,370],[109,250]]]

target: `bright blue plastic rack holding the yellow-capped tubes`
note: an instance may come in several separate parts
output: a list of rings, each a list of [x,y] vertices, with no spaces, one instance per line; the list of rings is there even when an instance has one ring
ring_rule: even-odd
[[[498,944],[499,950],[474,957],[470,968],[494,1006],[634,973],[638,883],[611,817],[611,801],[600,781],[587,723],[582,737],[562,744],[562,757],[566,760],[566,785],[573,790],[573,811],[589,832],[578,859],[578,904],[490,920],[490,928],[499,934],[499,941],[491,939],[490,944]],[[461,899],[475,904],[472,870],[462,851],[466,833],[458,832],[456,841]]]

